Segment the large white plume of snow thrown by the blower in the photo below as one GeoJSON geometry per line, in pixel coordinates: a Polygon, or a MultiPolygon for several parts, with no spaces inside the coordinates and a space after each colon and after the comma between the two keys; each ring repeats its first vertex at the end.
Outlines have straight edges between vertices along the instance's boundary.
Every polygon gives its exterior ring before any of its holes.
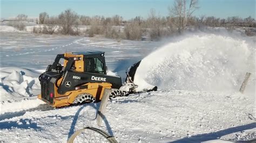
{"type": "MultiPolygon", "coordinates": [[[[245,39],[217,34],[194,34],[146,56],[134,76],[143,90],[238,91],[246,72],[253,73],[254,48],[245,39]]],[[[252,78],[251,78],[252,79],[252,78]]]]}

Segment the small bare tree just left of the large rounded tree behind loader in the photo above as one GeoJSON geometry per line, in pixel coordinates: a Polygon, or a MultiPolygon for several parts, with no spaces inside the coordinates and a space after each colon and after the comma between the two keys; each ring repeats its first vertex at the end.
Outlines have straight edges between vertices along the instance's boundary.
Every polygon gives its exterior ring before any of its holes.
{"type": "Polygon", "coordinates": [[[58,27],[58,25],[57,25],[58,18],[57,17],[46,18],[44,23],[45,23],[44,31],[47,34],[53,34],[58,27]]]}

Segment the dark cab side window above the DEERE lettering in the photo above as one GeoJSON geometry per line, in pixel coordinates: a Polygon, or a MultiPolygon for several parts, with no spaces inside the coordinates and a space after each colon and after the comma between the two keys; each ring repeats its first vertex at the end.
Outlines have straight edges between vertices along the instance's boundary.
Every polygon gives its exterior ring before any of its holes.
{"type": "Polygon", "coordinates": [[[86,58],[85,72],[104,74],[104,65],[98,58],[86,58]]]}

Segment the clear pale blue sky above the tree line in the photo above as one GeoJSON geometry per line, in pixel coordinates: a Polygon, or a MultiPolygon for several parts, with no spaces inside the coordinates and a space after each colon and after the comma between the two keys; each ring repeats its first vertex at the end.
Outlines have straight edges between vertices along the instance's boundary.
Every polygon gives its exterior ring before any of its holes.
{"type": "MultiPolygon", "coordinates": [[[[50,16],[57,16],[70,8],[79,15],[86,16],[120,15],[124,19],[136,16],[146,18],[151,8],[160,16],[167,16],[167,7],[172,5],[173,0],[1,0],[1,17],[16,17],[21,13],[28,17],[38,17],[44,11],[50,16]]],[[[255,0],[199,0],[199,6],[200,9],[194,12],[194,16],[255,18],[255,0]]]]}

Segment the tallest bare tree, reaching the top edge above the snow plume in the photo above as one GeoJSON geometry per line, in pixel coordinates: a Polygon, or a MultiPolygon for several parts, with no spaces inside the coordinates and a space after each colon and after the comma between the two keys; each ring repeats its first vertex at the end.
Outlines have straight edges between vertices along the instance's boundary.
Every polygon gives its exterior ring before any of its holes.
{"type": "Polygon", "coordinates": [[[187,25],[187,20],[190,19],[192,13],[198,9],[198,0],[175,0],[174,4],[169,7],[171,16],[178,17],[178,31],[181,33],[187,25]]]}

